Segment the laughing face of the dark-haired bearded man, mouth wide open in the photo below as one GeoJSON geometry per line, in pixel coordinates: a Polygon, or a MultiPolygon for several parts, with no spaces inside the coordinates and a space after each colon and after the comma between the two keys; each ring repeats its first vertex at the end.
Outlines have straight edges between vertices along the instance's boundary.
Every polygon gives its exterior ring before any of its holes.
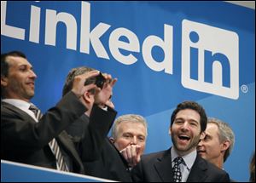
{"type": "Polygon", "coordinates": [[[173,146],[180,156],[194,151],[201,137],[199,113],[192,109],[177,112],[170,132],[173,146]]]}

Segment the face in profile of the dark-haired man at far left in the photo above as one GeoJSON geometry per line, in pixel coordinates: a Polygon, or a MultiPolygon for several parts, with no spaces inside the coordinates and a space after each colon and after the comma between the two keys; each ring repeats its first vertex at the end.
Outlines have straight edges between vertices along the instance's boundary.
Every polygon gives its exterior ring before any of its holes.
{"type": "Polygon", "coordinates": [[[35,79],[37,75],[32,71],[31,64],[24,58],[8,56],[9,64],[7,77],[1,78],[4,88],[4,98],[29,101],[34,95],[35,79]]]}

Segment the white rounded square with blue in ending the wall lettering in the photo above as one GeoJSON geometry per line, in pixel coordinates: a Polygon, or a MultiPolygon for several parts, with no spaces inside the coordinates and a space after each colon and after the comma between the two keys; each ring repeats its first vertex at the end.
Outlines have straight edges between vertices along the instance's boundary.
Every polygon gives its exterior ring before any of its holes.
{"type": "Polygon", "coordinates": [[[239,97],[239,40],[234,31],[183,20],[182,84],[187,89],[239,97]]]}

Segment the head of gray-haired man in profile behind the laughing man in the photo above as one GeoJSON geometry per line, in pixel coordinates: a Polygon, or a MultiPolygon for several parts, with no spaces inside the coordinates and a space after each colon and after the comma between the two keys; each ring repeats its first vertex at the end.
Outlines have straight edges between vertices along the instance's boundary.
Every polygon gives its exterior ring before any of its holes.
{"type": "Polygon", "coordinates": [[[224,162],[230,156],[235,144],[235,135],[228,123],[209,117],[205,136],[197,146],[201,157],[224,169],[224,162]]]}

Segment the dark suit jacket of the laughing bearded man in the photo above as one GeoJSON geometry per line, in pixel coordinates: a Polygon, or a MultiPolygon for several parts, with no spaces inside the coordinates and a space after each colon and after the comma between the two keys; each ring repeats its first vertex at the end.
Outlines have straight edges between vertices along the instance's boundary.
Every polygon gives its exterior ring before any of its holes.
{"type": "MultiPolygon", "coordinates": [[[[144,155],[132,169],[134,181],[173,182],[171,151],[144,155]]],[[[187,182],[230,182],[229,174],[197,155],[187,182]]]]}

